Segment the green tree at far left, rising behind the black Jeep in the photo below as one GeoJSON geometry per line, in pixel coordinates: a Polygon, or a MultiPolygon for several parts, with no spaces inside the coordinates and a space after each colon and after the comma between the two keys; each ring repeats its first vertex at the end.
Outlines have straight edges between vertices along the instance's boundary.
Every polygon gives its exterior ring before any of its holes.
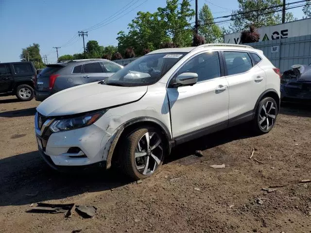
{"type": "Polygon", "coordinates": [[[42,62],[40,55],[40,46],[39,44],[34,43],[29,45],[26,49],[22,49],[21,54],[19,55],[20,61],[30,61],[35,64],[35,68],[43,68],[45,64],[42,62]]]}

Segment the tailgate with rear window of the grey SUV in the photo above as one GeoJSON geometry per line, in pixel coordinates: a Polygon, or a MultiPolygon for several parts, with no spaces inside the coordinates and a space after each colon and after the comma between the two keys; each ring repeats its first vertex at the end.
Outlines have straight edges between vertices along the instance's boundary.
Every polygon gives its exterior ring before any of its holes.
{"type": "Polygon", "coordinates": [[[39,74],[37,74],[37,83],[35,83],[36,91],[50,91],[50,77],[57,74],[64,66],[58,64],[47,65],[39,74]]]}

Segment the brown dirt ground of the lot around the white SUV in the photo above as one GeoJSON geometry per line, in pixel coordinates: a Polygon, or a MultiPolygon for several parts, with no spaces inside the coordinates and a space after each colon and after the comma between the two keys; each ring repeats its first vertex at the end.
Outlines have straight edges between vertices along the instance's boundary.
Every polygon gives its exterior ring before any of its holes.
{"type": "Polygon", "coordinates": [[[311,179],[309,106],[283,106],[265,135],[252,136],[243,125],[186,143],[153,177],[131,183],[117,170],[50,169],[36,151],[38,104],[0,97],[1,233],[311,232],[311,183],[299,184],[311,179]],[[209,167],[215,164],[226,167],[209,167]],[[273,185],[285,186],[261,190],[273,185]],[[97,213],[84,219],[26,212],[40,201],[93,205],[97,213]]]}

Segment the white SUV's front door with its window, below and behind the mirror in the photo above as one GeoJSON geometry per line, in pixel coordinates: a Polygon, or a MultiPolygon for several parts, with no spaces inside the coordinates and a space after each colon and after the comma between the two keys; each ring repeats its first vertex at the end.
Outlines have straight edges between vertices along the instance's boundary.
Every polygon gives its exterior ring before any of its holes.
{"type": "MultiPolygon", "coordinates": [[[[209,126],[227,126],[228,83],[221,74],[218,52],[204,52],[191,58],[174,78],[184,72],[198,74],[192,86],[168,88],[173,137],[198,132],[209,126]]],[[[208,128],[207,128],[208,130],[208,128]]]]}

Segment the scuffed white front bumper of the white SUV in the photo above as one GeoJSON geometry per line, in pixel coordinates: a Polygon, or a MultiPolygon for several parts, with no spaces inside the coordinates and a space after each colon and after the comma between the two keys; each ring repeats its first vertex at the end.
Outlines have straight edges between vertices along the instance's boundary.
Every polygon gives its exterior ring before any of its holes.
{"type": "Polygon", "coordinates": [[[37,126],[36,114],[35,134],[42,142],[42,150],[39,147],[39,152],[52,168],[86,166],[103,162],[107,158],[106,144],[110,134],[95,125],[52,134],[48,131],[49,129],[46,129],[41,133],[37,126]],[[72,148],[79,148],[80,151],[70,152],[69,149],[72,148]]]}

